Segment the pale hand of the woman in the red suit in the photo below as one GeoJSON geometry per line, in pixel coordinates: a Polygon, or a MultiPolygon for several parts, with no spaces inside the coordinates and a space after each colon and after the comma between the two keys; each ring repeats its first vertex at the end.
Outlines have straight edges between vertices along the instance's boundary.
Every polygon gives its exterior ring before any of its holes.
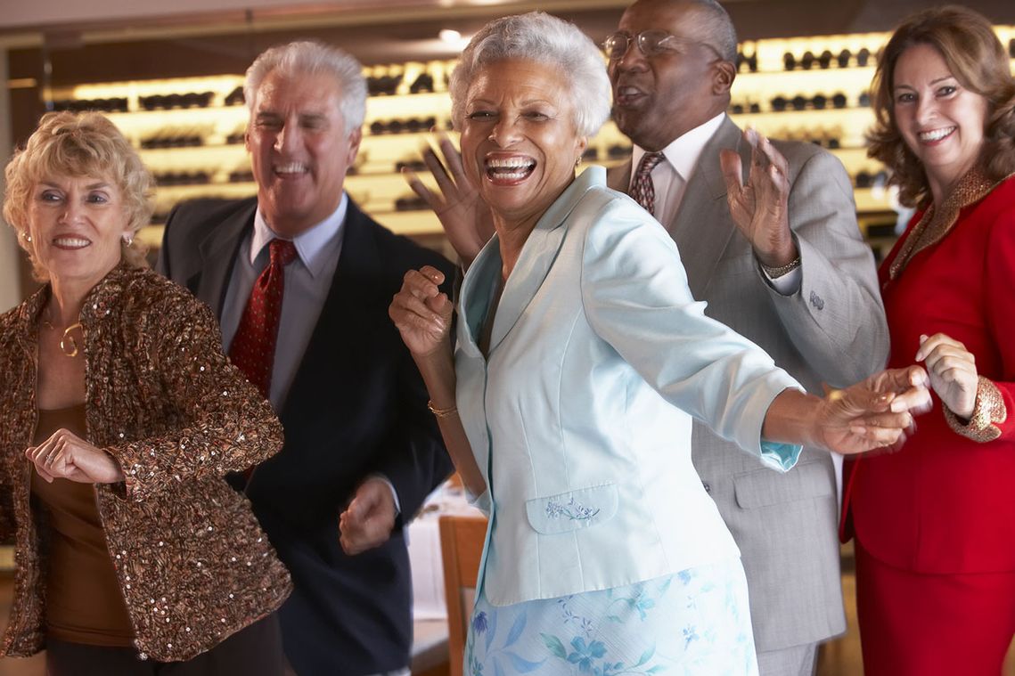
{"type": "Polygon", "coordinates": [[[965,345],[936,333],[920,337],[917,361],[924,361],[931,376],[931,387],[952,413],[968,420],[976,405],[976,358],[965,345]]]}

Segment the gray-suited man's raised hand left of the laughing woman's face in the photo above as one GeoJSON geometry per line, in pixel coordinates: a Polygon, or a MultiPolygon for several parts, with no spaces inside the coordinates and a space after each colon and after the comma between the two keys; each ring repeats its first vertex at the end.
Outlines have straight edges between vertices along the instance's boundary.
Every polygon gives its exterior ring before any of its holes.
{"type": "Polygon", "coordinates": [[[479,250],[493,235],[493,217],[490,208],[479,196],[479,192],[469,182],[462,166],[462,155],[455,148],[447,134],[437,137],[437,144],[444,161],[435,150],[423,150],[423,162],[433,175],[441,188],[437,195],[427,188],[419,177],[408,170],[403,175],[412,189],[423,198],[441,220],[448,241],[468,268],[479,254],[479,250]]]}

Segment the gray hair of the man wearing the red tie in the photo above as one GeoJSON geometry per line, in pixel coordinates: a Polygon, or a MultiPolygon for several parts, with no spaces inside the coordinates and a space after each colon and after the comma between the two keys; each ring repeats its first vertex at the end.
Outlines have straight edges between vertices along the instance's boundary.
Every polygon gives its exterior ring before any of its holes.
{"type": "Polygon", "coordinates": [[[272,47],[262,52],[247,69],[244,96],[247,98],[248,109],[254,110],[254,99],[261,82],[276,70],[285,77],[318,73],[331,75],[338,84],[338,106],[345,122],[345,132],[349,133],[363,125],[363,117],[366,115],[366,80],[363,78],[363,67],[354,57],[337,47],[310,41],[272,47]]]}

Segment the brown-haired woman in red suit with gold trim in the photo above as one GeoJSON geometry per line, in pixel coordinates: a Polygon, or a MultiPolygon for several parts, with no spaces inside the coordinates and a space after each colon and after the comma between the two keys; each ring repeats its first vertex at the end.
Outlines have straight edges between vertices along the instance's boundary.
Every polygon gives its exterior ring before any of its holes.
{"type": "Polygon", "coordinates": [[[990,22],[922,11],[874,84],[869,154],[918,212],[881,266],[889,367],[935,410],[848,469],[866,676],[997,676],[1015,633],[1015,82],[990,22]]]}

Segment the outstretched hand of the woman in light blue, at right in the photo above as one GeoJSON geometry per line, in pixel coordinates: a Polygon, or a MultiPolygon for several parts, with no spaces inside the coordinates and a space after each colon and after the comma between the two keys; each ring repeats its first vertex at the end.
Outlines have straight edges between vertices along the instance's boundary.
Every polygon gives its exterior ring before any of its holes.
{"type": "Polygon", "coordinates": [[[895,450],[915,430],[913,415],[931,408],[927,373],[892,368],[826,393],[817,413],[817,443],[843,455],[895,450]]]}

